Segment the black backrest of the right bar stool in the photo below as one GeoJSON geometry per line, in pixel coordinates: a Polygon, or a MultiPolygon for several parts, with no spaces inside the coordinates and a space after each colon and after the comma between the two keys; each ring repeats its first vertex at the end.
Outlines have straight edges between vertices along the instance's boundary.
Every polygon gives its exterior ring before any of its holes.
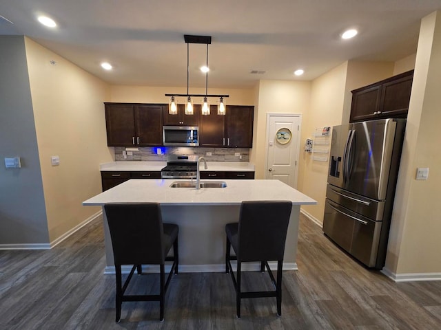
{"type": "Polygon", "coordinates": [[[291,208],[291,201],[243,201],[238,261],[283,260],[291,208]]]}

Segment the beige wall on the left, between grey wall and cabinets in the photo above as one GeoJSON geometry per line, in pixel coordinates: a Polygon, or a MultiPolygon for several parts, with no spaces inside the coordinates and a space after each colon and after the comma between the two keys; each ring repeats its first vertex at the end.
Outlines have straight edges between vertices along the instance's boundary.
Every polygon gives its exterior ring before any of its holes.
{"type": "Polygon", "coordinates": [[[25,38],[50,242],[99,208],[81,202],[101,192],[107,148],[103,100],[108,87],[61,56],[25,38]],[[50,64],[55,61],[56,64],[50,64]],[[51,156],[60,165],[51,165],[51,156]]]}

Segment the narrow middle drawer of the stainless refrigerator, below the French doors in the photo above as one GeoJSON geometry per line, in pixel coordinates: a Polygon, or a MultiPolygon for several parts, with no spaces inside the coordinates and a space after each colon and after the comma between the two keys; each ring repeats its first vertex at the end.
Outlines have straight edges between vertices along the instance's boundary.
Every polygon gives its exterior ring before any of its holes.
{"type": "Polygon", "coordinates": [[[328,184],[326,189],[326,197],[331,201],[371,220],[382,221],[384,201],[376,201],[375,199],[360,196],[331,184],[328,184]]]}

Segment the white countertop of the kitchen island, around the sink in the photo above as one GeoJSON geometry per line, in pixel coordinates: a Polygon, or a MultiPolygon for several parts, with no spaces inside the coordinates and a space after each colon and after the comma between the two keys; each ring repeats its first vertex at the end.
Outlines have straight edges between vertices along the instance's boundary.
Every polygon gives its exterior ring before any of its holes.
{"type": "MultiPolygon", "coordinates": [[[[226,188],[170,188],[174,179],[131,179],[83,201],[84,206],[105,203],[155,202],[167,205],[233,205],[242,201],[289,200],[293,204],[317,202],[279,180],[223,180],[226,188]]],[[[210,180],[202,180],[210,181],[210,180]]]]}

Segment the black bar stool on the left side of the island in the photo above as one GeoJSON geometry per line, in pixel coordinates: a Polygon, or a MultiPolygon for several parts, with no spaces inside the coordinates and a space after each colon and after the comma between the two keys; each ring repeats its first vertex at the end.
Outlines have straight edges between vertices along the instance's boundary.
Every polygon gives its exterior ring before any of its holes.
{"type": "Polygon", "coordinates": [[[107,203],[104,206],[109,224],[116,275],[116,322],[121,319],[123,301],[159,301],[159,320],[164,320],[164,296],[170,278],[178,274],[178,225],[163,223],[158,203],[107,203]],[[173,256],[167,256],[173,246],[173,256]],[[165,261],[173,261],[165,282],[165,261]],[[133,265],[122,285],[121,265],[133,265]],[[160,292],[153,295],[124,295],[135,269],[159,265],[160,292]]]}

